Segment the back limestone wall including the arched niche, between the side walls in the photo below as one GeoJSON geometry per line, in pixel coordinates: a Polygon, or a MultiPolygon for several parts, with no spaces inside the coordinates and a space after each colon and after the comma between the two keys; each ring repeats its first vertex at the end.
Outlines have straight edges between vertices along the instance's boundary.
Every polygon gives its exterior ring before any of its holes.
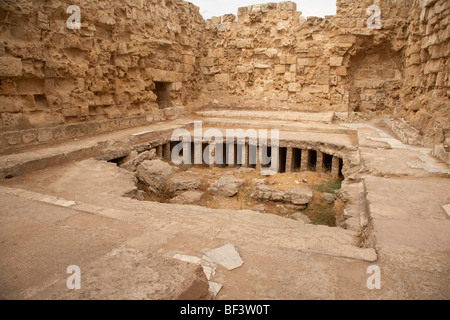
{"type": "Polygon", "coordinates": [[[339,0],[337,15],[325,19],[303,17],[292,2],[213,18],[202,61],[206,89],[255,106],[390,112],[398,102],[391,91],[401,84],[404,46],[393,39],[406,24],[408,3],[379,2],[381,30],[367,27],[373,1],[339,0]]]}

